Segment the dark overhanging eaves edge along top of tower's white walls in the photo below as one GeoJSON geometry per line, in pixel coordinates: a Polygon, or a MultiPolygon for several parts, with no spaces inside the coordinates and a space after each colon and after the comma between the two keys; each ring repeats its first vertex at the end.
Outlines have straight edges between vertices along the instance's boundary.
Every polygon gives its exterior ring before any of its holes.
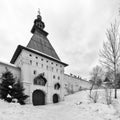
{"type": "Polygon", "coordinates": [[[12,63],[12,64],[15,63],[17,57],[19,56],[19,54],[21,53],[21,51],[22,51],[23,49],[24,49],[24,50],[27,50],[27,51],[29,51],[29,52],[35,53],[35,54],[37,54],[37,55],[41,55],[41,56],[46,57],[46,58],[48,58],[48,59],[51,59],[51,60],[53,60],[53,61],[55,61],[55,62],[61,63],[61,64],[63,64],[65,67],[68,66],[68,64],[66,64],[66,63],[64,63],[64,62],[61,62],[61,61],[59,61],[59,60],[57,60],[57,59],[55,59],[55,58],[53,58],[53,57],[51,57],[51,56],[48,56],[48,55],[43,54],[43,53],[41,53],[41,52],[39,52],[39,51],[33,50],[33,49],[31,49],[31,48],[28,48],[28,47],[24,47],[24,46],[21,46],[21,45],[18,45],[18,46],[17,46],[17,49],[16,49],[16,51],[15,51],[15,53],[14,53],[14,55],[13,55],[11,61],[10,61],[10,63],[12,63]]]}

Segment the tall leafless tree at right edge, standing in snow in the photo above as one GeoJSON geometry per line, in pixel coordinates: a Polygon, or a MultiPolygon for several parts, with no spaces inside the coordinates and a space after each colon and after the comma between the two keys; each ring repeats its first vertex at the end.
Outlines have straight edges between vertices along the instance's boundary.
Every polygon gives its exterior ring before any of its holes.
{"type": "Polygon", "coordinates": [[[106,32],[107,41],[103,42],[103,49],[100,51],[100,62],[113,73],[113,83],[115,88],[115,98],[117,98],[116,74],[120,65],[120,34],[119,24],[111,24],[106,32]]]}

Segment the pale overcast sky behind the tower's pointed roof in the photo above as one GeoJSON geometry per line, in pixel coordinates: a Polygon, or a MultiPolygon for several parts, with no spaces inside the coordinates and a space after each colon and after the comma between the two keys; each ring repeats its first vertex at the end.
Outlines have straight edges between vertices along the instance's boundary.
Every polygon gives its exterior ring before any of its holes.
{"type": "Polygon", "coordinates": [[[119,0],[0,0],[0,58],[10,61],[26,46],[41,10],[48,39],[69,66],[65,73],[87,78],[98,63],[105,32],[119,15],[119,0]]]}

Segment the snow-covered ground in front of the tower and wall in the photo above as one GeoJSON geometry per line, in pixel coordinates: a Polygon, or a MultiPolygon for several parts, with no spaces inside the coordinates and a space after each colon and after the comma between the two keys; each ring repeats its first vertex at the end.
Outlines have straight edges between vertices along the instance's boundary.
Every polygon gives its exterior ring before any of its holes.
{"type": "Polygon", "coordinates": [[[45,106],[6,103],[0,100],[0,120],[120,120],[120,99],[112,105],[92,103],[88,91],[69,95],[65,101],[45,106]]]}

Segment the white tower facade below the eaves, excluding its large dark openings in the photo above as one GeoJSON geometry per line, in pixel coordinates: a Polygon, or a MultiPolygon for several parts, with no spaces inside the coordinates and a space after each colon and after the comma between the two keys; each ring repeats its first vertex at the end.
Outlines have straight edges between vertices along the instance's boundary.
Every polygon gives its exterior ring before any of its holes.
{"type": "Polygon", "coordinates": [[[21,68],[21,78],[26,88],[25,93],[30,96],[29,103],[32,103],[32,93],[40,89],[46,94],[46,103],[52,103],[53,94],[57,93],[60,101],[64,99],[63,79],[64,66],[42,56],[38,56],[26,50],[22,50],[15,64],[21,68]],[[40,73],[44,73],[47,79],[46,86],[34,85],[34,78],[40,73]],[[55,76],[55,77],[54,77],[55,76]],[[54,84],[59,83],[61,88],[54,89],[54,84]]]}

